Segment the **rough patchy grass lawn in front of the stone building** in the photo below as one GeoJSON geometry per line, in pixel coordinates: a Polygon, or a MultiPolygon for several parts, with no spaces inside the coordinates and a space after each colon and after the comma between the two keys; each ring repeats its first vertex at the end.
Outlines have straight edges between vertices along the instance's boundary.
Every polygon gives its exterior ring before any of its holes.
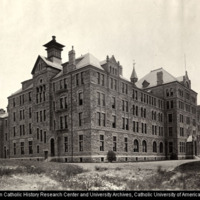
{"type": "Polygon", "coordinates": [[[75,164],[0,160],[0,190],[199,190],[199,180],[200,161],[191,160],[75,164]]]}

